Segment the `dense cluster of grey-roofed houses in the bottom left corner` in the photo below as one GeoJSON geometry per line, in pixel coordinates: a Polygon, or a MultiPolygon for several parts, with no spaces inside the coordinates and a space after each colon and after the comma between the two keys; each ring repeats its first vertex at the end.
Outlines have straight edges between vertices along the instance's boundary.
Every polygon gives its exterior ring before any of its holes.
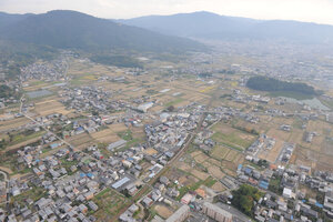
{"type": "Polygon", "coordinates": [[[40,192],[40,199],[32,201],[36,196],[29,195],[23,202],[13,201],[9,221],[95,221],[91,214],[99,206],[93,196],[104,188],[101,179],[108,178],[105,163],[71,149],[61,149],[42,159],[37,159],[38,154],[32,157],[28,150],[19,153],[33,174],[10,180],[9,190],[13,199],[26,192],[40,192]]]}

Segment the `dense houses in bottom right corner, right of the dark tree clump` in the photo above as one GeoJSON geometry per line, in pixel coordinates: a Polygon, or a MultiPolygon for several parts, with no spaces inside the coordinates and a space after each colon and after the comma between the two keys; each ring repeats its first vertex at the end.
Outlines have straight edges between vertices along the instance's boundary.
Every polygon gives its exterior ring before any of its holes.
{"type": "MultiPolygon", "coordinates": [[[[303,165],[259,172],[250,165],[240,165],[238,174],[238,182],[249,183],[265,192],[255,204],[256,221],[323,221],[323,214],[333,218],[333,184],[330,172],[316,171],[311,175],[311,168],[303,165]],[[270,180],[278,181],[276,189],[270,188],[270,180]],[[306,191],[300,189],[300,184],[314,190],[316,199],[309,198],[306,191]]],[[[226,201],[229,199],[224,202],[226,201]]]]}

